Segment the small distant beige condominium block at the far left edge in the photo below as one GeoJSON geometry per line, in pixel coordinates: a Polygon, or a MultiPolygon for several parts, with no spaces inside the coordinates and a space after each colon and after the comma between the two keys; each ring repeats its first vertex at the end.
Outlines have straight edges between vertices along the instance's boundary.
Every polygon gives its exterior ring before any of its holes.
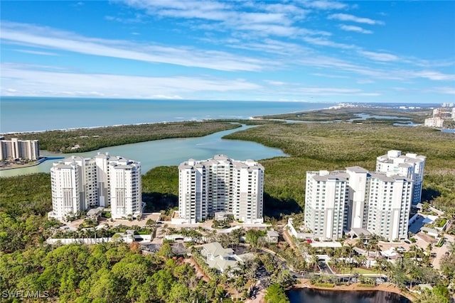
{"type": "Polygon", "coordinates": [[[40,158],[38,140],[19,140],[18,138],[4,140],[4,137],[1,137],[0,145],[0,160],[38,160],[40,158]]]}

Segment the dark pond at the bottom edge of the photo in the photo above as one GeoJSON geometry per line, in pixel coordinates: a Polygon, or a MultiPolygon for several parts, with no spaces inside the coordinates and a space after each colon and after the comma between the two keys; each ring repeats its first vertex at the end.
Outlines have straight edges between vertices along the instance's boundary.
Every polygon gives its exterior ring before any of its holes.
{"type": "Polygon", "coordinates": [[[291,303],[409,303],[400,294],[382,291],[289,290],[291,303]]]}

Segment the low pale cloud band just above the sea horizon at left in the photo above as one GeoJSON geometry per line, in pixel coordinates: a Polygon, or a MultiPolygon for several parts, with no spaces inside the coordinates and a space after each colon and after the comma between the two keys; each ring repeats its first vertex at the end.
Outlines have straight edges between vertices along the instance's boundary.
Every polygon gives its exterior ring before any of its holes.
{"type": "Polygon", "coordinates": [[[1,94],[11,95],[6,87],[14,87],[18,96],[65,96],[69,94],[104,97],[181,96],[199,92],[236,92],[262,89],[245,79],[214,77],[140,77],[128,75],[79,74],[49,72],[24,65],[2,64],[1,94]]]}

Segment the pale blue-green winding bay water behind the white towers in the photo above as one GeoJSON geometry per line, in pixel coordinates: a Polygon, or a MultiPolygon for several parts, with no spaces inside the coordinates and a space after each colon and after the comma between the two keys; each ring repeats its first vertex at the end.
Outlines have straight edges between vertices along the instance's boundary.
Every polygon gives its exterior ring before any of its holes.
{"type": "MultiPolygon", "coordinates": [[[[225,140],[221,137],[228,133],[241,131],[254,126],[242,126],[229,131],[220,131],[208,136],[199,138],[177,138],[157,141],[148,141],[127,145],[112,146],[102,148],[87,153],[48,153],[41,150],[42,156],[52,158],[68,158],[71,155],[80,155],[82,157],[93,157],[100,153],[109,153],[109,155],[121,155],[141,162],[142,174],[145,174],[153,167],[161,165],[178,165],[181,162],[193,158],[203,160],[213,158],[213,155],[223,153],[235,160],[262,160],[279,156],[286,156],[278,148],[267,148],[259,143],[249,141],[225,140]]],[[[60,159],[62,160],[62,159],[60,159]]],[[[16,175],[26,175],[34,172],[50,172],[52,163],[59,159],[47,160],[40,165],[16,168],[13,170],[0,170],[0,177],[11,177],[16,175]]]]}

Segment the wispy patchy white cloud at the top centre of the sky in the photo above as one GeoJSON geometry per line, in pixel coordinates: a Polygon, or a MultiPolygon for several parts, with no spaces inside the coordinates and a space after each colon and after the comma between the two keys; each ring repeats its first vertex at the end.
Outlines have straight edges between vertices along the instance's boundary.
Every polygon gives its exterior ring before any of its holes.
{"type": "MultiPolygon", "coordinates": [[[[120,1],[118,1],[120,2],[120,1]]],[[[249,1],[145,1],[124,0],[124,4],[145,11],[153,18],[184,18],[191,20],[191,28],[210,31],[252,32],[260,36],[294,36],[314,34],[294,26],[310,12],[295,4],[277,4],[249,1]]],[[[306,6],[341,7],[343,4],[328,1],[311,1],[306,6]],[[313,3],[315,2],[315,3],[313,3]]]]}

